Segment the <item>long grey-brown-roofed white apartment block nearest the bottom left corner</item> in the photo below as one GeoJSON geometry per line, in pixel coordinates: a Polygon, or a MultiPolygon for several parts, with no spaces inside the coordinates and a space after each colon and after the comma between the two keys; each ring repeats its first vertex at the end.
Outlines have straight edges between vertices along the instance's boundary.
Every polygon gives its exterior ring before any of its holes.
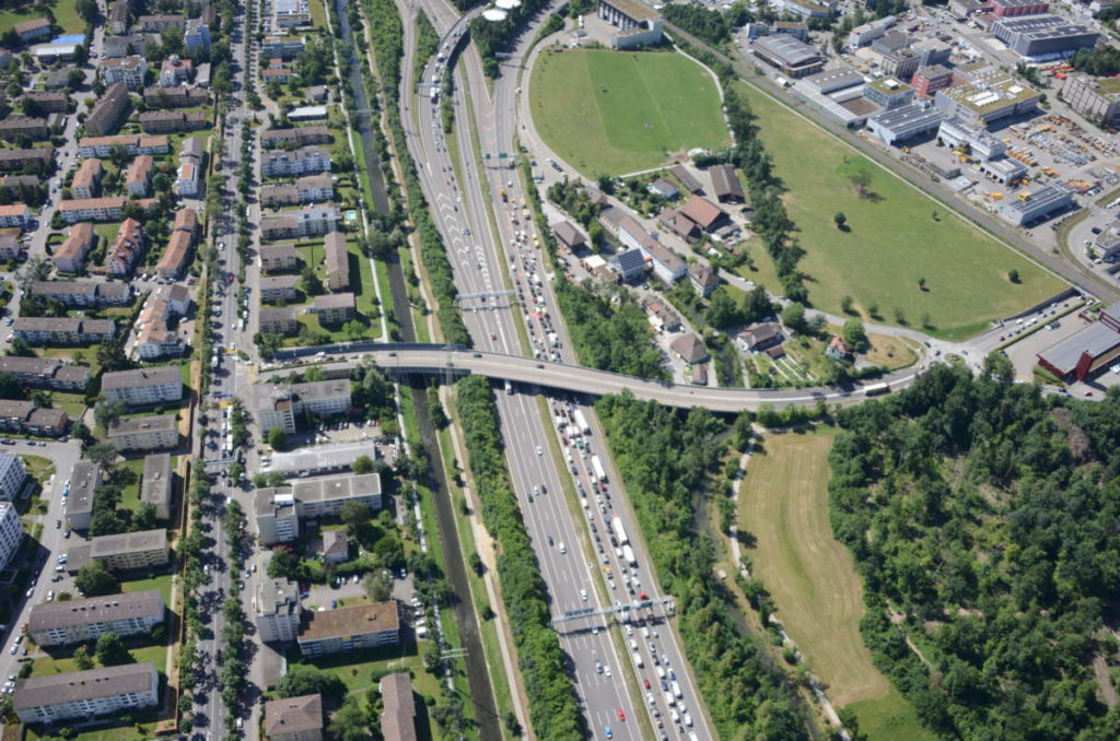
{"type": "Polygon", "coordinates": [[[24,723],[108,715],[159,704],[159,675],[151,662],[21,679],[12,711],[24,723]]]}

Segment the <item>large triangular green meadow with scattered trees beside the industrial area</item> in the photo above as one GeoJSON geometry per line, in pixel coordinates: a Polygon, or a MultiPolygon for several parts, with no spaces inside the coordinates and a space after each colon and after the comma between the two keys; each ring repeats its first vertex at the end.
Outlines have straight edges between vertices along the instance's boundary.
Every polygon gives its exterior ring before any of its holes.
{"type": "MultiPolygon", "coordinates": [[[[963,339],[1062,289],[1060,281],[855,149],[739,85],[787,189],[786,208],[806,253],[800,266],[816,308],[840,313],[841,298],[851,296],[865,316],[877,307],[881,320],[898,323],[900,310],[914,327],[927,317],[927,331],[963,339]],[[870,176],[867,197],[849,179],[857,171],[870,176]],[[847,216],[846,231],[833,224],[838,212],[847,216]],[[1012,269],[1021,283],[1008,280],[1012,269]],[[921,278],[925,290],[918,288],[921,278]]],[[[768,260],[760,251],[754,256],[768,260]]],[[[765,282],[759,274],[749,278],[765,282]]]]}

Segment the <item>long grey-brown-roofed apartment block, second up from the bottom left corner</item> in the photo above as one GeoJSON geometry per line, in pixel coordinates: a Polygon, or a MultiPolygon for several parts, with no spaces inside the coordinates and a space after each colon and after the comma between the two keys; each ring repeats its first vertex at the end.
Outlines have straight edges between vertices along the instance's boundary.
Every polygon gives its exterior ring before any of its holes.
{"type": "Polygon", "coordinates": [[[27,632],[40,647],[94,641],[106,632],[147,636],[164,623],[166,606],[158,589],[105,594],[31,608],[27,632]]]}

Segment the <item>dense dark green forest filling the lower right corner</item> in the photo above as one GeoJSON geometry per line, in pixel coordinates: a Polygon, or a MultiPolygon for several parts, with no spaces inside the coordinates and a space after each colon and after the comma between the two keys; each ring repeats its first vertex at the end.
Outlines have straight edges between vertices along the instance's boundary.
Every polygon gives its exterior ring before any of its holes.
{"type": "Polygon", "coordinates": [[[878,666],[942,738],[1120,738],[1102,697],[1120,589],[1120,393],[1043,397],[935,366],[844,410],[832,528],[856,559],[878,666]]]}

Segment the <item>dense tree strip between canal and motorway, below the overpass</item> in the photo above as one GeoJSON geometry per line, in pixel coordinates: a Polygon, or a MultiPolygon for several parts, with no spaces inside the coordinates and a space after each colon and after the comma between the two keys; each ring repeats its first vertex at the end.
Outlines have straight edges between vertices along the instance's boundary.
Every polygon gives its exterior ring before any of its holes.
{"type": "Polygon", "coordinates": [[[505,466],[497,406],[488,379],[467,376],[459,381],[456,410],[482,501],[483,523],[498,544],[497,575],[517,646],[533,731],[541,741],[586,738],[567,658],[550,625],[544,580],[505,466]]]}

